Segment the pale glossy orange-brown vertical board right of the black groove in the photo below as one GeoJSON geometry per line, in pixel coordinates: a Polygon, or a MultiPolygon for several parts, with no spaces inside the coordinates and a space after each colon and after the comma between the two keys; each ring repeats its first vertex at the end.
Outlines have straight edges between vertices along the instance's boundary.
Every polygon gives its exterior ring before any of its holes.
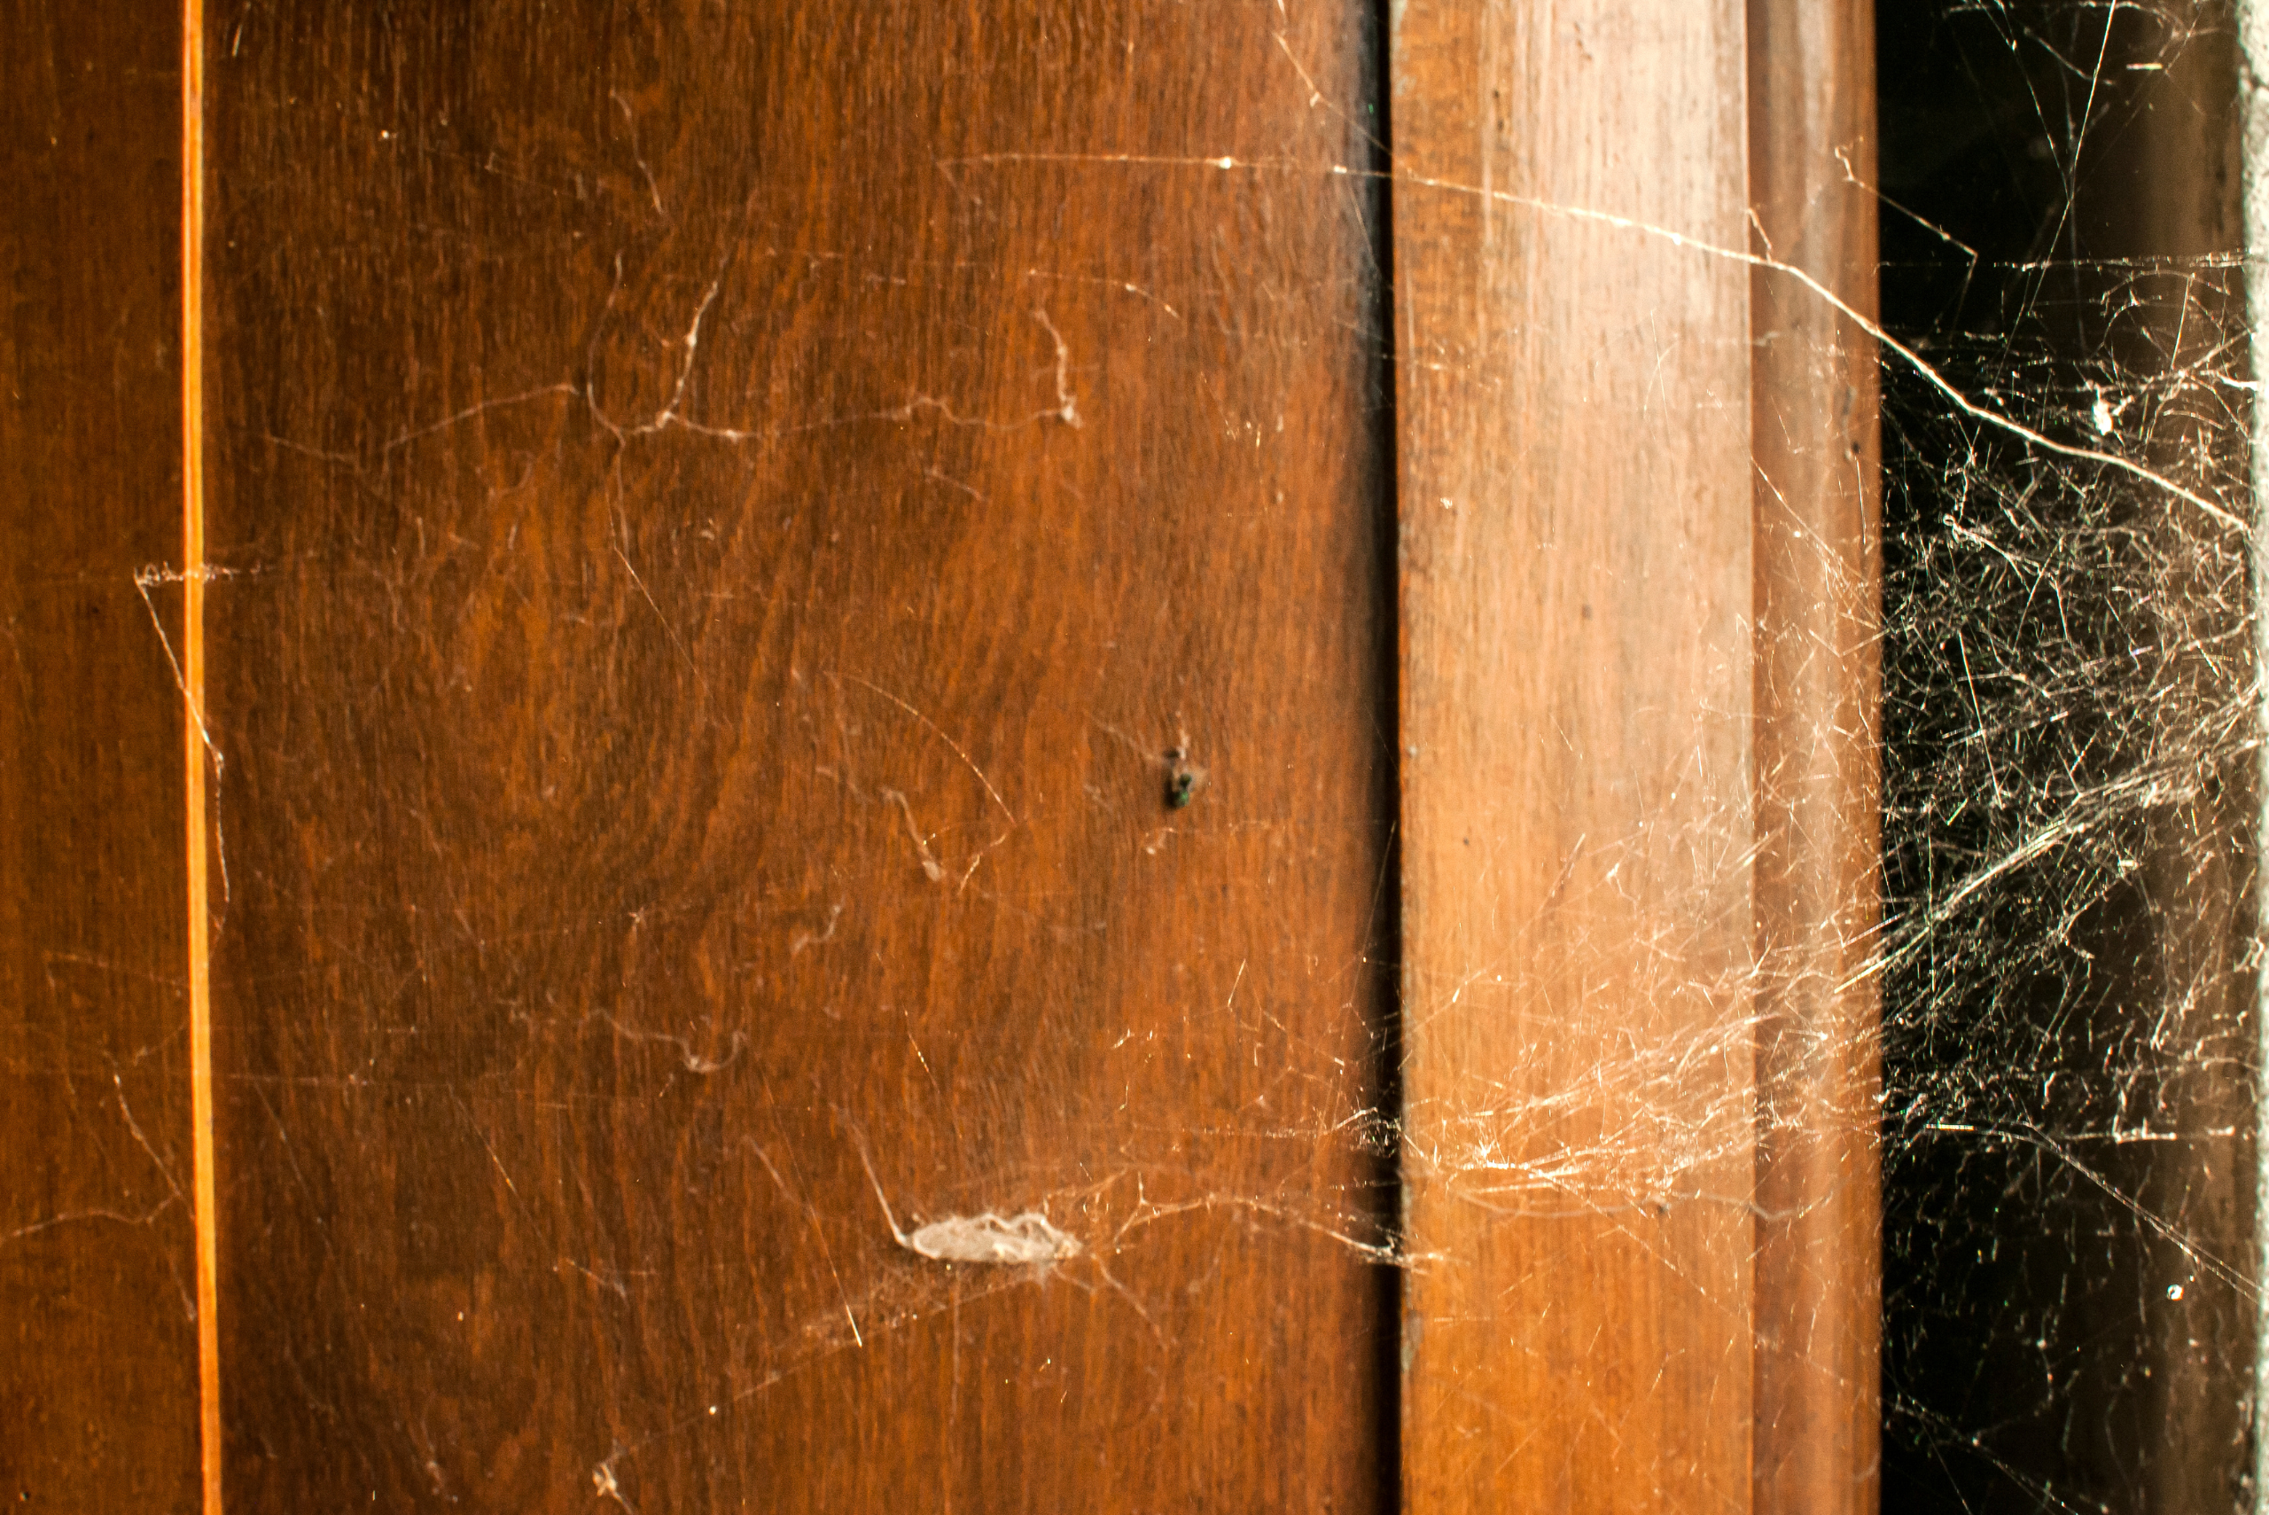
{"type": "Polygon", "coordinates": [[[1405,1495],[1747,1508],[1743,11],[1409,0],[1391,52],[1405,1495]]]}

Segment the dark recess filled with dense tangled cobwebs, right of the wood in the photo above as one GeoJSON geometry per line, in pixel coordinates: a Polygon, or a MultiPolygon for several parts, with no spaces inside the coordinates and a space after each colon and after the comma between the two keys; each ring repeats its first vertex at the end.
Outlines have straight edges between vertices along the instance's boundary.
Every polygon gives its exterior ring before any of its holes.
{"type": "MultiPolygon", "coordinates": [[[[1883,7],[1886,324],[2251,517],[2235,16],[1883,7]]],[[[2251,1508],[2242,533],[1886,370],[1886,1508],[2251,1508]]]]}

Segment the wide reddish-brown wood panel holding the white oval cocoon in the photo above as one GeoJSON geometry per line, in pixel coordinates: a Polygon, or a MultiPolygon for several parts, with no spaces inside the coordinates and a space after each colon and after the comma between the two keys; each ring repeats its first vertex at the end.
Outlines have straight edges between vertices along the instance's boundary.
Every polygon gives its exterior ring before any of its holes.
{"type": "Polygon", "coordinates": [[[227,1506],[1373,1508],[1361,18],[206,48],[227,1506]]]}

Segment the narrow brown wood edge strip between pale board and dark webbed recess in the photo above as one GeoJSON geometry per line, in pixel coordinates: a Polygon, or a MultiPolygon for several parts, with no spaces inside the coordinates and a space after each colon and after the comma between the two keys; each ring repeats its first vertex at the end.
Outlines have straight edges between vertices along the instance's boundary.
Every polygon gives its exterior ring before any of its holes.
{"type": "MultiPolygon", "coordinates": [[[[1749,0],[1752,249],[1876,313],[1874,7],[1749,0]]],[[[1756,1504],[1876,1508],[1881,433],[1874,338],[1752,274],[1756,1504]]]]}

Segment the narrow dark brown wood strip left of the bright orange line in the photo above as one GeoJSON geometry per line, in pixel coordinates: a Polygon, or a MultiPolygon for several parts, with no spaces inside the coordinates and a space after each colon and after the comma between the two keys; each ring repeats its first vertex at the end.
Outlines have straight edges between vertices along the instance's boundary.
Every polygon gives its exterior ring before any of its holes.
{"type": "Polygon", "coordinates": [[[0,20],[0,1499],[186,1510],[177,32],[0,20]],[[143,576],[145,578],[145,576],[143,576]]]}

